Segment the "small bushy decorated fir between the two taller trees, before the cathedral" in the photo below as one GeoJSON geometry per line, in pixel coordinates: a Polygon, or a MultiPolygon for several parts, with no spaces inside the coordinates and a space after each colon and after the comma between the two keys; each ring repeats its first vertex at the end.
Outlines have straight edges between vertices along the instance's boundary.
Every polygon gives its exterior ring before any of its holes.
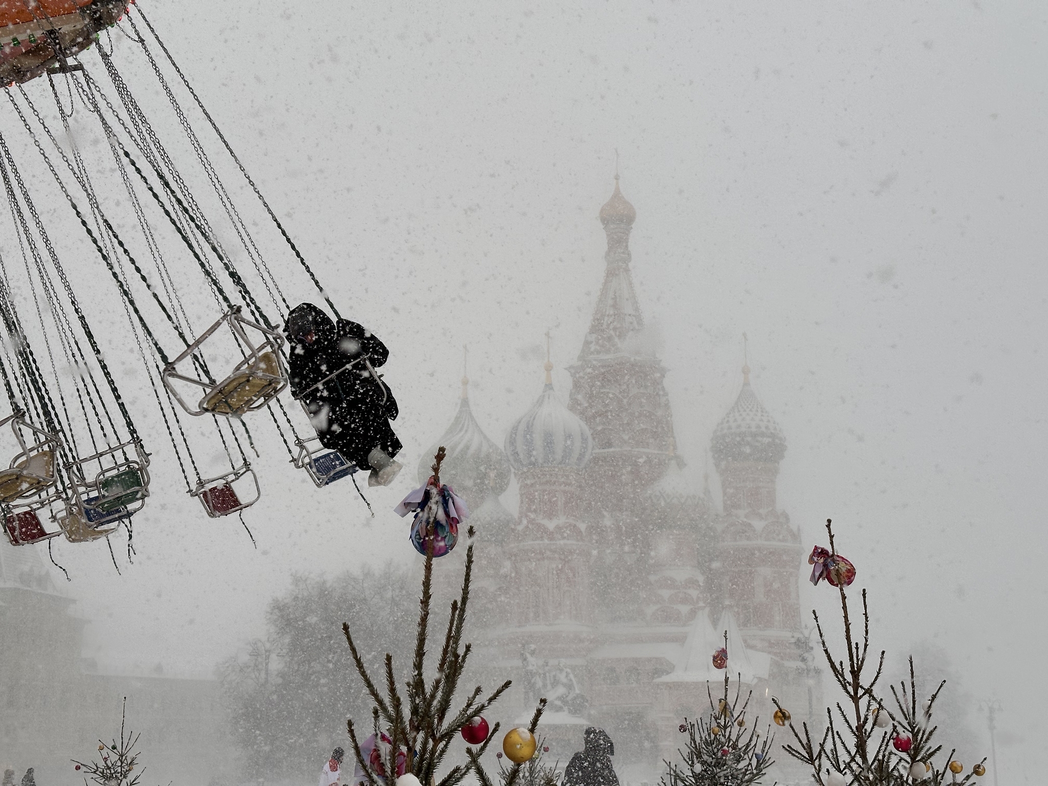
{"type": "MultiPolygon", "coordinates": [[[[727,658],[727,631],[724,631],[723,653],[727,658]]],[[[665,762],[669,771],[662,777],[661,786],[749,786],[760,783],[765,770],[774,762],[768,756],[774,739],[768,732],[761,737],[756,726],[760,718],[747,725],[746,708],[752,692],[746,694],[742,706],[741,677],[736,682],[735,698],[728,700],[728,672],[724,672],[724,693],[714,704],[709,698],[708,718],[684,719],[680,730],[687,735],[683,749],[678,749],[682,764],[665,762]]]]}

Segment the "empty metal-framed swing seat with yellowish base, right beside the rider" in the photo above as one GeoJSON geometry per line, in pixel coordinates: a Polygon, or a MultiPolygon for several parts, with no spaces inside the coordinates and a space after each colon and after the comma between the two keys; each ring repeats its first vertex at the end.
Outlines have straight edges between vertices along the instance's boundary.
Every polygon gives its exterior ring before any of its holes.
{"type": "Polygon", "coordinates": [[[184,352],[165,366],[160,374],[163,387],[178,401],[178,405],[191,415],[222,415],[223,417],[239,418],[248,412],[262,409],[287,387],[287,366],[280,352],[280,348],[284,344],[284,336],[275,330],[269,330],[259,325],[257,322],[244,319],[240,310],[240,307],[236,306],[224,313],[218,322],[208,328],[196,341],[187,347],[184,352]],[[222,326],[227,327],[232,332],[237,346],[243,353],[243,359],[221,381],[214,384],[180,373],[178,371],[179,364],[191,361],[199,352],[201,345],[222,326]],[[247,334],[247,329],[260,333],[262,341],[259,343],[252,341],[247,334]],[[277,373],[269,373],[265,370],[265,366],[270,362],[270,355],[272,362],[276,363],[277,373]],[[241,378],[243,383],[241,383],[241,378]],[[182,397],[175,381],[203,388],[204,395],[195,406],[191,406],[182,397]],[[231,400],[232,393],[241,391],[241,385],[247,381],[262,383],[262,387],[258,391],[252,392],[249,397],[243,402],[236,403],[235,400],[231,400]],[[228,386],[234,386],[233,390],[227,393],[221,393],[228,386]],[[209,407],[209,401],[213,399],[216,393],[220,394],[218,400],[224,401],[226,405],[224,409],[215,406],[209,407]]]}

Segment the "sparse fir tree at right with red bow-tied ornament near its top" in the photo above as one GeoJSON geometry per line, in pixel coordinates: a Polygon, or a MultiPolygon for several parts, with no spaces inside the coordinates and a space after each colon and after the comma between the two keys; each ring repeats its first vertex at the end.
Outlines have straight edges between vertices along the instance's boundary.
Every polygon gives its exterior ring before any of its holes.
{"type": "Polygon", "coordinates": [[[863,639],[852,629],[848,595],[845,588],[854,578],[854,567],[836,552],[832,522],[827,519],[826,532],[830,548],[815,548],[809,562],[815,564],[813,581],[825,574],[840,593],[840,613],[844,620],[847,662],[834,659],[826,643],[818,614],[812,611],[823,654],[829,664],[833,680],[844,694],[834,706],[826,708],[827,727],[816,743],[807,723],[799,732],[790,720],[789,712],[778,699],[776,722],[788,725],[794,742],[783,749],[798,761],[811,767],[814,781],[820,786],[903,786],[904,784],[958,784],[963,786],[985,773],[983,759],[965,773],[963,765],[954,759],[956,749],[942,758],[944,747],[934,741],[936,726],[932,721],[935,701],[945,681],[921,700],[917,696],[913,658],[910,658],[910,684],[891,685],[892,707],[885,696],[877,693],[877,682],[885,665],[885,652],[873,661],[870,656],[870,613],[866,590],[863,590],[863,639]],[[939,758],[941,767],[935,763],[939,758]]]}

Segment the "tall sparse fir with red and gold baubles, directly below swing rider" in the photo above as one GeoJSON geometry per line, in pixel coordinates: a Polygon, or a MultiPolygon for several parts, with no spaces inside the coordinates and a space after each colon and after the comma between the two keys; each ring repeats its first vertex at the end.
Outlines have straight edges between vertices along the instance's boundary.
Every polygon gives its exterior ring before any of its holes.
{"type": "MultiPolygon", "coordinates": [[[[434,487],[437,489],[441,488],[440,464],[443,457],[444,449],[441,446],[434,457],[433,464],[434,487]]],[[[440,658],[432,679],[427,678],[425,672],[433,584],[434,539],[432,533],[423,533],[427,554],[422,571],[422,591],[419,598],[415,652],[411,673],[402,692],[397,684],[393,655],[386,654],[385,673],[381,680],[383,689],[380,690],[365,665],[349,625],[343,625],[343,633],[349,645],[353,663],[374,702],[371,719],[374,737],[371,739],[371,744],[368,745],[370,749],[367,755],[362,748],[362,742],[357,737],[357,729],[352,719],[347,723],[353,745],[353,755],[369,786],[388,783],[386,778],[388,772],[395,773],[394,778],[400,782],[400,786],[406,786],[406,784],[415,786],[419,783],[428,784],[428,786],[455,786],[471,773],[480,782],[481,786],[492,786],[492,780],[484,771],[480,759],[498,734],[499,723],[496,723],[479,742],[465,748],[465,763],[456,764],[440,780],[437,780],[437,770],[459,734],[466,726],[470,728],[463,737],[472,737],[476,734],[477,728],[485,728],[487,724],[486,721],[482,720],[482,715],[510,685],[510,681],[506,680],[484,699],[481,698],[483,689],[477,685],[466,697],[464,703],[460,703],[458,708],[453,707],[459,681],[462,678],[472,649],[470,643],[462,641],[473,574],[473,527],[470,527],[467,534],[471,543],[466,548],[462,589],[459,598],[452,602],[440,658]]],[[[520,737],[525,738],[525,741],[530,743],[532,751],[534,729],[539,725],[539,719],[545,705],[546,700],[541,699],[528,727],[515,729],[520,737]]],[[[522,759],[520,763],[515,763],[509,768],[506,777],[502,779],[503,786],[515,785],[524,761],[526,759],[522,759]]]]}

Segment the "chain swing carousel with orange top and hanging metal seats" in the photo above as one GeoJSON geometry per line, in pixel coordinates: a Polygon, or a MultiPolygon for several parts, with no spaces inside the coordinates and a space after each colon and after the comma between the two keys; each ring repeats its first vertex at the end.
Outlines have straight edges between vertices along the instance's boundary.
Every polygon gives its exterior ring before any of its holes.
{"type": "MultiPolygon", "coordinates": [[[[373,454],[381,465],[348,460],[318,424],[349,377],[350,387],[363,377],[383,402],[392,398],[373,368],[385,354],[369,363],[350,351],[331,373],[322,367],[311,398],[292,385],[302,407],[285,407],[287,289],[315,287],[339,335],[347,325],[370,333],[341,319],[141,8],[0,0],[0,82],[9,214],[0,218],[0,377],[10,408],[0,419],[0,456],[13,456],[0,470],[0,516],[8,541],[50,548],[60,534],[84,543],[123,527],[130,543],[152,480],[144,434],[166,434],[188,494],[211,518],[259,500],[248,455],[258,456],[253,430],[269,425],[318,487],[358,468],[372,470],[374,481],[385,467],[378,482],[388,482],[399,467],[390,456],[373,454]],[[275,274],[269,240],[305,277],[275,274]],[[139,391],[147,411],[132,414],[139,391]]],[[[290,350],[301,354],[294,342],[312,336],[289,334],[290,350]]]]}

